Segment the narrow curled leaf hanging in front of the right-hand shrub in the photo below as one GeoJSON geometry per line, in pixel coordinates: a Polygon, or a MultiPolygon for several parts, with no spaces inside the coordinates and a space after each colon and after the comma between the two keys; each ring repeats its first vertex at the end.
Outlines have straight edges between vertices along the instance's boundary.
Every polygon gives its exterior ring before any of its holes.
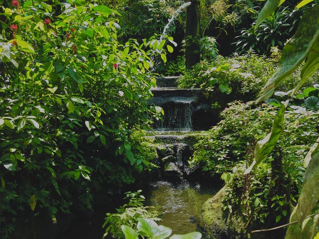
{"type": "Polygon", "coordinates": [[[281,105],[274,119],[271,132],[262,140],[258,141],[254,151],[254,161],[245,171],[245,175],[250,173],[260,162],[265,160],[278,142],[283,132],[283,122],[285,116],[285,105],[281,105]]]}

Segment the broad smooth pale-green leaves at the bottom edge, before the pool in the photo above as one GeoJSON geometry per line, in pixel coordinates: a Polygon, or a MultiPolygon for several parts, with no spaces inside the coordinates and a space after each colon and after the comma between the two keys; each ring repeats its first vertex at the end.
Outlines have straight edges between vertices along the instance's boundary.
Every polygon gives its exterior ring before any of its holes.
{"type": "MultiPolygon", "coordinates": [[[[171,229],[158,225],[150,219],[139,218],[137,225],[138,233],[126,225],[122,226],[122,231],[126,239],[138,239],[139,235],[148,239],[165,239],[171,235],[171,229]]],[[[194,232],[185,235],[173,235],[169,239],[201,239],[201,233],[194,232]]]]}

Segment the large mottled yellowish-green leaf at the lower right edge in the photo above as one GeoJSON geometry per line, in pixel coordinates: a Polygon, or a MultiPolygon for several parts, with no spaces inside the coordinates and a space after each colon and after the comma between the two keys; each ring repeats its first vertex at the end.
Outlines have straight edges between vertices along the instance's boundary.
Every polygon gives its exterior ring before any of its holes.
{"type": "Polygon", "coordinates": [[[319,152],[312,156],[308,165],[302,191],[298,200],[296,214],[299,224],[302,225],[305,218],[315,208],[319,201],[319,152]]]}

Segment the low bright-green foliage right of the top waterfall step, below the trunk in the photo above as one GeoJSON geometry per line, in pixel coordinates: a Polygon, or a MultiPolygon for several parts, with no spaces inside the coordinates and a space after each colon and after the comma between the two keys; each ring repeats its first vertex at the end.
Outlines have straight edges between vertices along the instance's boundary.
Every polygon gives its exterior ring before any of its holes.
{"type": "Polygon", "coordinates": [[[236,89],[242,94],[254,96],[274,71],[271,60],[252,53],[231,58],[218,56],[211,62],[202,61],[185,72],[178,85],[181,88],[207,90],[219,88],[228,94],[236,89]]]}

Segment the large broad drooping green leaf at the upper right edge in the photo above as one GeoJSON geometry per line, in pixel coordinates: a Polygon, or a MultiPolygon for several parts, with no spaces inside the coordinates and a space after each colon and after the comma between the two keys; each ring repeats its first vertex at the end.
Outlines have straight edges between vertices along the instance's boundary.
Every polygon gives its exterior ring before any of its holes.
{"type": "MultiPolygon", "coordinates": [[[[293,73],[317,46],[319,40],[319,5],[306,10],[295,35],[285,45],[277,72],[268,80],[256,102],[272,96],[275,88],[293,73]]],[[[306,74],[308,75],[308,74],[306,74]]],[[[306,76],[305,75],[305,76],[306,76]]]]}

